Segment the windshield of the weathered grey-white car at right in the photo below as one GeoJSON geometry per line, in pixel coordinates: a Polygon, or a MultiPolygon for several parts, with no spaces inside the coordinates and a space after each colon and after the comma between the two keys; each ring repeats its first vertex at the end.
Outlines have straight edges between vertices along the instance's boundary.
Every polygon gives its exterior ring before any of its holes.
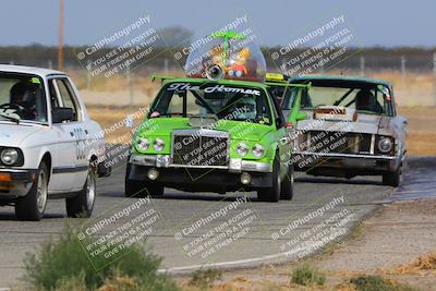
{"type": "Polygon", "coordinates": [[[283,108],[289,107],[301,92],[302,109],[320,106],[341,106],[353,108],[358,112],[373,114],[392,114],[389,90],[378,89],[376,85],[343,83],[340,85],[314,84],[310,88],[293,88],[283,108]]]}

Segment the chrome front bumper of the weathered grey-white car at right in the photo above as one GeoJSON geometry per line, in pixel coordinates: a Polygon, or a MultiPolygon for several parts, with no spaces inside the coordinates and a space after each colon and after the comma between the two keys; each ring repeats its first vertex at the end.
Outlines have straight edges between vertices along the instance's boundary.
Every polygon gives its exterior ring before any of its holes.
{"type": "Polygon", "coordinates": [[[395,171],[401,161],[398,156],[296,151],[291,162],[295,170],[303,171],[330,168],[378,174],[395,171]]]}

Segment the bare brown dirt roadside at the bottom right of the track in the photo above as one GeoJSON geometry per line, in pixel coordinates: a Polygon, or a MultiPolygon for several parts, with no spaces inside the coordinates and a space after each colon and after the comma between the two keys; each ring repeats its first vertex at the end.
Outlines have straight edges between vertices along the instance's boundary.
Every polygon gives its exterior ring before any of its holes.
{"type": "MultiPolygon", "coordinates": [[[[304,262],[226,271],[210,290],[353,290],[358,276],[382,276],[411,290],[435,290],[436,201],[382,206],[342,242],[304,262]],[[322,287],[290,283],[292,269],[308,264],[326,276],[322,287]]],[[[191,290],[186,278],[179,279],[191,290]]]]}

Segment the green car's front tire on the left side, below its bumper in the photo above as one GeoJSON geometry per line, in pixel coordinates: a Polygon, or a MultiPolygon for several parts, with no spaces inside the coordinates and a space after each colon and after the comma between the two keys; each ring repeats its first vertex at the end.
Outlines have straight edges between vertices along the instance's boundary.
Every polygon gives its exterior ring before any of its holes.
{"type": "Polygon", "coordinates": [[[125,167],[124,196],[134,198],[160,197],[164,195],[164,186],[154,185],[153,182],[143,182],[129,179],[132,166],[125,167]]]}

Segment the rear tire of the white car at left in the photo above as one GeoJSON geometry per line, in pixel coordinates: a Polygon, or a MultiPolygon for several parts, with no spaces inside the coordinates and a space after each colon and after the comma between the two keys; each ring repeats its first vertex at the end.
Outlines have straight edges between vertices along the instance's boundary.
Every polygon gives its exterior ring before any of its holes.
{"type": "Polygon", "coordinates": [[[96,171],[88,169],[85,184],[74,197],[65,199],[66,215],[73,218],[88,218],[93,214],[97,195],[96,171]]]}

